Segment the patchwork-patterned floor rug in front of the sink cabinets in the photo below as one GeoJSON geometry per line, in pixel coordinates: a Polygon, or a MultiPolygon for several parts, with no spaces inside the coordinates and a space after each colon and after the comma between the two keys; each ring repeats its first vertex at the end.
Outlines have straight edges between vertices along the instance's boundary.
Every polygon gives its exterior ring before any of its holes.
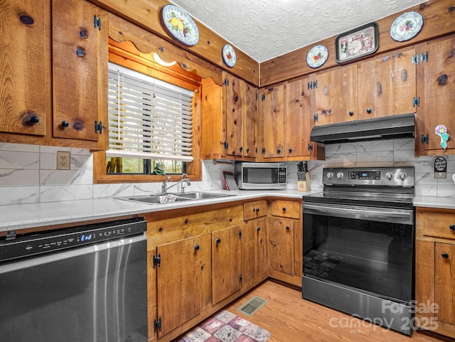
{"type": "Polygon", "coordinates": [[[264,342],[270,336],[269,331],[223,310],[203,321],[178,342],[264,342]]]}

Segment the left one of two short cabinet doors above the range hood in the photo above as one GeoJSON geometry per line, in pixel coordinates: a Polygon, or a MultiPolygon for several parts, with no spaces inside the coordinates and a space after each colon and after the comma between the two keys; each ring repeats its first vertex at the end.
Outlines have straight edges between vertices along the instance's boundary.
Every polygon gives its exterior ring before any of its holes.
{"type": "Polygon", "coordinates": [[[357,119],[357,65],[311,75],[311,121],[314,125],[357,119]]]}

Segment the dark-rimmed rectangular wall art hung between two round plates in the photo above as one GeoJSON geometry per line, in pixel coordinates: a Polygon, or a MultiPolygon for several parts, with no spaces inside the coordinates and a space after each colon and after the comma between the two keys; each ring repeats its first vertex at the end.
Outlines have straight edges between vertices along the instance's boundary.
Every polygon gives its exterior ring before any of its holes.
{"type": "Polygon", "coordinates": [[[341,33],[335,39],[336,62],[343,63],[348,60],[370,55],[378,50],[378,24],[368,23],[341,33]]]}

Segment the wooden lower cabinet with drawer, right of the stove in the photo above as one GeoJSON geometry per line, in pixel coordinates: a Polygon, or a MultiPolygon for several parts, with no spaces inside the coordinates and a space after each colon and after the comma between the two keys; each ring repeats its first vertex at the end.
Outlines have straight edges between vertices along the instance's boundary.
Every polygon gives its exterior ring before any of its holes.
{"type": "Polygon", "coordinates": [[[455,210],[417,208],[416,326],[455,338],[455,210]]]}

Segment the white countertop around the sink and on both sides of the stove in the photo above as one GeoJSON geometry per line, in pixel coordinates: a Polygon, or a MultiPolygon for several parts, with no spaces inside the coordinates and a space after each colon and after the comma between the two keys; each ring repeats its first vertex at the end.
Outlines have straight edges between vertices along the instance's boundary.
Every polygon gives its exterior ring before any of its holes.
{"type": "MultiPolygon", "coordinates": [[[[46,225],[60,225],[68,223],[78,224],[84,223],[84,221],[102,218],[115,218],[124,215],[137,215],[168,209],[187,208],[189,206],[210,205],[239,200],[243,201],[262,196],[301,198],[304,195],[315,193],[317,191],[218,190],[210,192],[232,194],[235,196],[166,204],[141,204],[131,201],[123,201],[116,198],[99,198],[79,201],[0,205],[0,231],[20,230],[25,228],[36,228],[44,227],[46,225]]],[[[455,198],[416,196],[414,198],[414,206],[455,209],[455,198]]]]}

